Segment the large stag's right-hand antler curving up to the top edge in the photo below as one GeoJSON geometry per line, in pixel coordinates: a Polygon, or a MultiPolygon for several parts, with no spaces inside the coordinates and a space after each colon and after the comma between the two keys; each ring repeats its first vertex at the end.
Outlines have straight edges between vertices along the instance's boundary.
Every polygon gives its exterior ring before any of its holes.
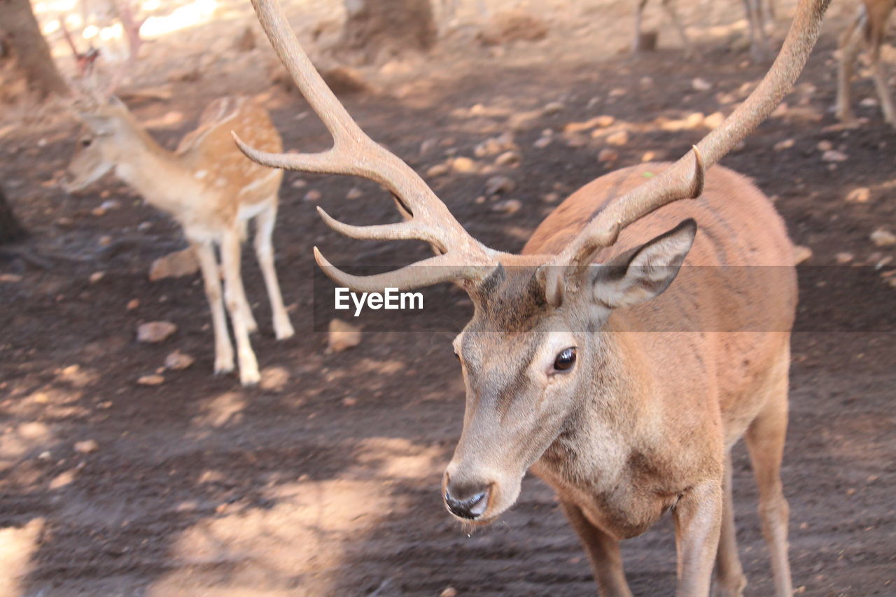
{"type": "Polygon", "coordinates": [[[787,39],[769,72],[753,93],[718,128],[694,146],[694,165],[688,154],[658,176],[618,197],[557,255],[556,264],[587,264],[594,251],[616,242],[622,229],[666,203],[694,198],[702,191],[704,169],[709,169],[771,114],[806,65],[818,39],[824,12],[831,0],[802,0],[787,39]]]}

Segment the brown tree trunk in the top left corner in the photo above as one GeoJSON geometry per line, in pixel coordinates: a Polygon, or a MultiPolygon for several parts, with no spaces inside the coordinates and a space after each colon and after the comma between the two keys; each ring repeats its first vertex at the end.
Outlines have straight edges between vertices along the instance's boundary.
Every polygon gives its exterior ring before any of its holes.
{"type": "Polygon", "coordinates": [[[68,93],[68,86],[50,56],[47,40],[40,34],[30,0],[0,0],[0,15],[3,15],[0,29],[30,91],[39,99],[50,93],[68,93]]]}

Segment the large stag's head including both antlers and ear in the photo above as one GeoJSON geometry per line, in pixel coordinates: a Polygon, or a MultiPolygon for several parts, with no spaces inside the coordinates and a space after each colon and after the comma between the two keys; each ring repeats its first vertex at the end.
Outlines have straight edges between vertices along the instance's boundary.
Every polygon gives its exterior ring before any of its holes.
{"type": "Polygon", "coordinates": [[[331,150],[317,154],[256,151],[252,160],[274,168],[349,174],[386,186],[405,221],[351,226],[318,208],[323,221],[351,238],[429,242],[436,256],[392,273],[353,276],[314,258],[333,281],[359,291],[412,289],[458,281],[474,304],[454,340],[467,391],[460,443],[444,475],[445,505],[467,521],[487,523],[513,505],[523,474],[563,436],[582,396],[616,399],[613,372],[620,355],[602,342],[609,315],[659,295],[675,279],[696,233],[683,221],[644,239],[602,267],[592,265],[622,229],[662,205],[702,192],[710,168],[767,117],[801,72],[818,36],[827,0],[800,0],[771,70],[728,119],[682,159],[599,212],[556,255],[511,255],[479,243],[454,220],[420,177],[364,134],[327,89],[289,29],[275,0],[253,0],[280,60],[332,133],[331,150]]]}

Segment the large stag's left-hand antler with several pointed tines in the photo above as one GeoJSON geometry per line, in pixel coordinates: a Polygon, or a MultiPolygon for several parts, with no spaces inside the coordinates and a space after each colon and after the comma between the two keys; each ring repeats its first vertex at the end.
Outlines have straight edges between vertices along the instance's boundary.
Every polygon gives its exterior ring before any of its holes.
{"type": "Polygon", "coordinates": [[[320,153],[267,153],[243,143],[236,134],[239,149],[250,160],[271,168],[302,170],[322,174],[348,174],[373,180],[398,198],[407,221],[379,226],[350,226],[332,219],[318,209],[332,229],[352,238],[379,240],[419,239],[432,244],[439,253],[424,261],[392,273],[352,276],[333,267],[314,248],[314,258],[333,281],[356,290],[383,290],[386,286],[419,288],[440,281],[478,281],[487,269],[496,265],[498,255],[472,238],[454,219],[448,208],[408,164],[375,143],[349,116],[323,78],[314,69],[296,34],[289,27],[275,0],[252,0],[264,32],[287,67],[299,91],[323,120],[333,137],[333,146],[320,153]],[[433,267],[418,268],[417,265],[433,267]],[[437,267],[436,267],[437,266],[437,267]],[[412,269],[413,268],[413,269],[412,269]]]}

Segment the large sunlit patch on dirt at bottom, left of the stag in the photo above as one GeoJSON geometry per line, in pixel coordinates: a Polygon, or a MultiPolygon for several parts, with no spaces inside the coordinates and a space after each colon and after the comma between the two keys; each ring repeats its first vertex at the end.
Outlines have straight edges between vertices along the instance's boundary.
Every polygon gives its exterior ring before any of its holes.
{"type": "Polygon", "coordinates": [[[332,575],[322,573],[340,567],[359,528],[404,506],[383,489],[378,480],[297,482],[271,489],[271,508],[205,518],[175,541],[175,570],[147,595],[328,594],[332,575]]]}

